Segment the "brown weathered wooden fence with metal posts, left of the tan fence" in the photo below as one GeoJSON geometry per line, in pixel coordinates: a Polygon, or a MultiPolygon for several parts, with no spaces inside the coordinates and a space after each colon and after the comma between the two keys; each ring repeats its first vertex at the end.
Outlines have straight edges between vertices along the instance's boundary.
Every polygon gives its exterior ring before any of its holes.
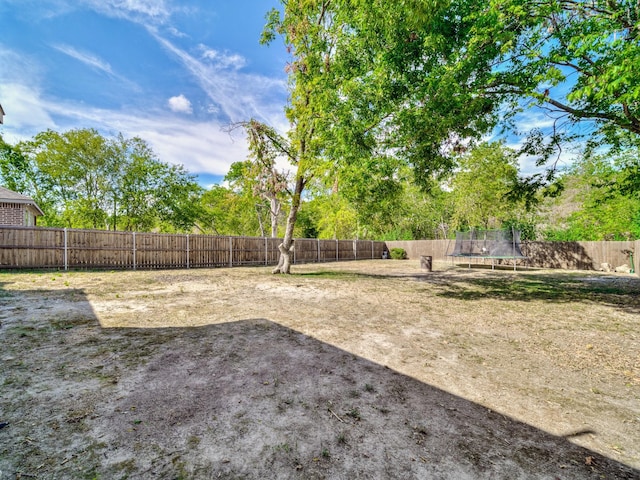
{"type": "MultiPolygon", "coordinates": [[[[278,238],[0,226],[0,269],[275,265],[278,238]]],[[[293,263],[382,258],[384,242],[296,239],[293,263]]]]}

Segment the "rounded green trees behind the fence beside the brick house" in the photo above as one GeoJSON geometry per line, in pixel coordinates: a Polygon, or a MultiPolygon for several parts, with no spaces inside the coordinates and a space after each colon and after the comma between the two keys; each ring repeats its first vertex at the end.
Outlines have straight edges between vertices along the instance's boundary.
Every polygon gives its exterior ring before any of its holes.
{"type": "Polygon", "coordinates": [[[2,182],[36,201],[43,226],[178,232],[201,214],[195,178],[139,138],[47,130],[2,151],[2,182]]]}

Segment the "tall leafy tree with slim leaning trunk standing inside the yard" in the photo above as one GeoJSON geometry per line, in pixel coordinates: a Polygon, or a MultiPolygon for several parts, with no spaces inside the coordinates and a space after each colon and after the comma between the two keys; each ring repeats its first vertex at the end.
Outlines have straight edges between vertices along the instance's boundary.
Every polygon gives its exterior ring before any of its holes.
{"type": "Polygon", "coordinates": [[[291,129],[277,142],[295,167],[274,272],[289,272],[302,192],[312,178],[333,182],[348,171],[341,182],[351,191],[386,194],[408,164],[429,185],[452,167],[461,139],[494,125],[492,100],[469,93],[449,67],[468,40],[470,5],[289,0],[269,14],[264,40],[281,34],[291,54],[291,129]],[[369,179],[381,187],[377,193],[369,179]]]}

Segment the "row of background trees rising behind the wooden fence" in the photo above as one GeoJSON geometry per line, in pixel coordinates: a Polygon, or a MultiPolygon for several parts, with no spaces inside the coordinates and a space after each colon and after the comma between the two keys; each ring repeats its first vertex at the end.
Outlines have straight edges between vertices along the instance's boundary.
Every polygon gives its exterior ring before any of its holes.
{"type": "MultiPolygon", "coordinates": [[[[530,240],[640,238],[640,198],[629,183],[638,159],[628,152],[576,162],[558,174],[553,195],[539,192],[533,204],[515,194],[518,155],[504,143],[480,143],[455,162],[428,190],[408,167],[377,180],[348,169],[330,182],[313,180],[294,236],[438,239],[513,226],[530,240]]],[[[231,164],[223,184],[205,189],[140,138],[90,129],[48,130],[15,145],[0,137],[0,184],[36,201],[41,226],[281,237],[291,180],[274,152],[252,150],[231,164]]]]}

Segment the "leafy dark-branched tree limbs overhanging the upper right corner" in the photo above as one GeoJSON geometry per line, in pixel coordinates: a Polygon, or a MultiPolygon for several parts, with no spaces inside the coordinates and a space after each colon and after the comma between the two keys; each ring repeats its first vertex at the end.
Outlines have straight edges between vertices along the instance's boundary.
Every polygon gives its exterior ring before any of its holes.
{"type": "MultiPolygon", "coordinates": [[[[505,121],[533,106],[544,112],[551,121],[546,133],[524,132],[523,151],[536,155],[540,165],[553,171],[566,140],[575,136],[586,136],[589,150],[637,150],[637,1],[492,0],[468,21],[472,36],[453,67],[473,72],[472,92],[506,102],[505,121]]],[[[540,173],[527,180],[536,187],[549,178],[540,173]]]]}

